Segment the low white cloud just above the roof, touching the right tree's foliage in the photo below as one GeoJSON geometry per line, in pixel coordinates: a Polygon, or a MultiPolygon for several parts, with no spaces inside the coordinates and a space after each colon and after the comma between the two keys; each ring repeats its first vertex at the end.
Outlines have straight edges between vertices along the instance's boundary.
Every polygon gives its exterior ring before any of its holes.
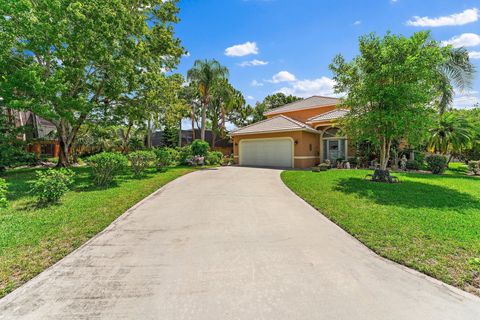
{"type": "Polygon", "coordinates": [[[318,79],[305,79],[292,82],[289,87],[283,87],[278,92],[292,94],[294,96],[308,98],[314,95],[332,96],[334,95],[333,86],[335,81],[328,77],[318,79]]]}

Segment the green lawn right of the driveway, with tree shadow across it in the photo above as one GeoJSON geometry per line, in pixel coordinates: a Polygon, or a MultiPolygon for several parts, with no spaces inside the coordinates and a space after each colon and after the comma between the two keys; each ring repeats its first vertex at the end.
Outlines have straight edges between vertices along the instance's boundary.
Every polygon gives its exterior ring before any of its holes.
{"type": "Polygon", "coordinates": [[[395,174],[400,184],[365,181],[367,170],[282,179],[381,256],[480,295],[480,179],[454,171],[395,174]]]}

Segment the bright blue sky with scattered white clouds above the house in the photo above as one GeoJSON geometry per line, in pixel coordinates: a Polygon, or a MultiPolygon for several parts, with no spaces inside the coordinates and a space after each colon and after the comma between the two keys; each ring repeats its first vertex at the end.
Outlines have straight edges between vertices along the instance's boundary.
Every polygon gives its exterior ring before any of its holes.
{"type": "Polygon", "coordinates": [[[337,53],[358,53],[369,32],[411,35],[431,30],[438,41],[468,45],[478,74],[474,88],[458,93],[456,107],[480,101],[480,3],[478,0],[181,0],[176,26],[189,56],[219,60],[247,102],[285,92],[331,95],[328,64],[337,53]]]}

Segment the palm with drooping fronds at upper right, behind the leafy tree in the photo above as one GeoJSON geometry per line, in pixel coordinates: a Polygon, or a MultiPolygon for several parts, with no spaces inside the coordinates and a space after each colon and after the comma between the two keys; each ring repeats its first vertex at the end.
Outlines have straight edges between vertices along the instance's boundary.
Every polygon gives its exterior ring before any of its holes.
{"type": "Polygon", "coordinates": [[[443,114],[453,102],[454,88],[464,91],[472,87],[475,66],[470,62],[465,48],[450,48],[447,59],[438,70],[438,111],[443,114]]]}

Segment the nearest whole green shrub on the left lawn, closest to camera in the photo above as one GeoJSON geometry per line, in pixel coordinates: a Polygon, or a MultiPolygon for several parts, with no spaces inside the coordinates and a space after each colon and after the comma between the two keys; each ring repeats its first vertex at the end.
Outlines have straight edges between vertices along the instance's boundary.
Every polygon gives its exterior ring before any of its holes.
{"type": "Polygon", "coordinates": [[[32,193],[37,197],[39,204],[58,202],[73,183],[73,171],[65,168],[37,171],[36,174],[37,179],[33,183],[32,193]]]}

